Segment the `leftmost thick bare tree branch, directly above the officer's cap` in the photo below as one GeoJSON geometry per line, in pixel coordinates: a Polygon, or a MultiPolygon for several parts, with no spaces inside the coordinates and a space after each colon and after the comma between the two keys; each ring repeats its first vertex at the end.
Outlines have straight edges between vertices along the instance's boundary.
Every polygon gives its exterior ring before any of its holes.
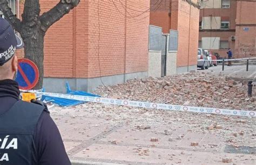
{"type": "Polygon", "coordinates": [[[18,32],[21,32],[21,20],[16,18],[14,13],[12,13],[6,0],[0,0],[0,10],[3,12],[5,19],[9,21],[12,27],[14,27],[18,32]]]}

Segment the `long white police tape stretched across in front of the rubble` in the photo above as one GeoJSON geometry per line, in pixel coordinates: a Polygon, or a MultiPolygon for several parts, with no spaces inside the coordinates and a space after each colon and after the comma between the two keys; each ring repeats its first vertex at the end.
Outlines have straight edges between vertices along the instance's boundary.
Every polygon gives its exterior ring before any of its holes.
{"type": "Polygon", "coordinates": [[[171,110],[171,111],[200,112],[200,113],[212,113],[212,114],[226,114],[226,115],[233,115],[233,116],[256,117],[256,111],[216,109],[216,108],[210,108],[210,107],[196,107],[196,106],[186,106],[186,105],[139,102],[139,101],[129,101],[129,100],[123,100],[123,99],[113,99],[113,98],[103,98],[103,97],[55,94],[55,93],[38,92],[38,91],[34,91],[34,92],[38,95],[73,99],[77,101],[85,101],[85,102],[93,102],[93,103],[144,107],[144,108],[151,108],[151,109],[171,110]]]}

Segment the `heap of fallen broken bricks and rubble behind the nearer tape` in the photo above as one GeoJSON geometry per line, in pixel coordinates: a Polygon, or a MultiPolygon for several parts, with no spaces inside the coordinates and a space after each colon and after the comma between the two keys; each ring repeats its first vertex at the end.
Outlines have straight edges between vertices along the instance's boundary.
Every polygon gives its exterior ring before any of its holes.
{"type": "Polygon", "coordinates": [[[247,81],[228,80],[211,73],[187,73],[130,80],[99,87],[102,97],[223,109],[256,110],[256,90],[247,96],[247,81]]]}

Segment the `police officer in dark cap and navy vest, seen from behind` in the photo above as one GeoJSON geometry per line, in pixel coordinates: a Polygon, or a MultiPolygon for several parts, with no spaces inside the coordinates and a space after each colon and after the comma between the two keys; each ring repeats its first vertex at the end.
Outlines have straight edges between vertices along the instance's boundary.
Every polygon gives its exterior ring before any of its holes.
{"type": "Polygon", "coordinates": [[[19,100],[16,49],[23,42],[0,18],[0,164],[71,164],[49,111],[19,100]]]}

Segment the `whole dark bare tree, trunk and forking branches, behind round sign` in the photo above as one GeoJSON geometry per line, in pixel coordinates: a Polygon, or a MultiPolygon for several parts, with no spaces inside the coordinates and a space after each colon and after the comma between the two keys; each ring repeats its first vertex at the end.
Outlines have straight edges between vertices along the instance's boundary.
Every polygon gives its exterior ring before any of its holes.
{"type": "Polygon", "coordinates": [[[70,12],[80,0],[60,0],[48,12],[40,13],[39,0],[26,0],[22,21],[14,16],[6,0],[0,0],[0,10],[9,23],[21,34],[24,41],[25,58],[37,65],[39,81],[34,89],[43,88],[44,77],[44,36],[49,27],[70,12]]]}

